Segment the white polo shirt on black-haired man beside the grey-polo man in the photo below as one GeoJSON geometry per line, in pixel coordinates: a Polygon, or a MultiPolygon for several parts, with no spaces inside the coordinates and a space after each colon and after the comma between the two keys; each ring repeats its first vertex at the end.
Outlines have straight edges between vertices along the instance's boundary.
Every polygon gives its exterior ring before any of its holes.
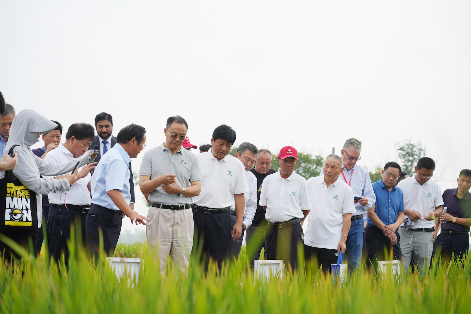
{"type": "Polygon", "coordinates": [[[227,155],[220,161],[211,153],[196,154],[201,171],[201,192],[193,202],[201,207],[225,208],[234,205],[234,195],[249,192],[242,162],[227,155]]]}

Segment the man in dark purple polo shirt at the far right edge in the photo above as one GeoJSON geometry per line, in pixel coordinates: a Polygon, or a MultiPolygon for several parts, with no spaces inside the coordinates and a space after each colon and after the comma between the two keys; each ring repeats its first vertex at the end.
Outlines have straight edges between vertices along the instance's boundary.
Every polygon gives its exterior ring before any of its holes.
{"type": "MultiPolygon", "coordinates": [[[[437,237],[437,250],[447,260],[465,258],[469,250],[469,236],[471,225],[471,170],[463,169],[460,172],[458,187],[443,192],[443,209],[447,213],[440,216],[441,233],[437,237]]],[[[435,253],[435,252],[434,252],[435,253]]]]}

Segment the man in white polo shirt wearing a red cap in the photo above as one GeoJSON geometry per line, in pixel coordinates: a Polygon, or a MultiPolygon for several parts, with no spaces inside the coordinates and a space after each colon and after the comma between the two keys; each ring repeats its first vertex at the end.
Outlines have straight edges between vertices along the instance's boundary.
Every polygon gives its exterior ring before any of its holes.
{"type": "Polygon", "coordinates": [[[278,154],[280,169],[263,180],[260,206],[267,211],[267,258],[283,259],[294,269],[298,264],[298,244],[304,233],[302,222],[311,209],[308,183],[294,172],[298,152],[284,146],[278,154]]]}

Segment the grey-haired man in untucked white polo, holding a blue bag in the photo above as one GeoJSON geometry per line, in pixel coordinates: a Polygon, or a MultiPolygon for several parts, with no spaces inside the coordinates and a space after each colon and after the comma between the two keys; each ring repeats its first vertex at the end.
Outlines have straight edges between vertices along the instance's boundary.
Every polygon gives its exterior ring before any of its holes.
{"type": "Polygon", "coordinates": [[[322,266],[324,274],[337,264],[336,253],[345,252],[352,213],[356,211],[353,190],[339,176],[343,160],[330,154],[325,158],[324,175],[308,180],[309,197],[313,206],[309,212],[304,238],[306,262],[312,258],[322,266]]]}

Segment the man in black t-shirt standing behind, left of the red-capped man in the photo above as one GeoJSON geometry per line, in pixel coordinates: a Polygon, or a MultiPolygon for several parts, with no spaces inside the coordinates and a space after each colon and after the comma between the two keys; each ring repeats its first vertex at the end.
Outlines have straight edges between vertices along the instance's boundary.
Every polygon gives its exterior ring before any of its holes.
{"type": "MultiPolygon", "coordinates": [[[[266,149],[260,149],[257,159],[255,160],[255,168],[251,169],[252,173],[257,177],[257,211],[252,220],[252,225],[245,231],[245,242],[247,243],[247,257],[250,258],[250,265],[253,266],[253,261],[260,258],[262,247],[265,246],[265,230],[268,221],[265,220],[265,209],[260,206],[260,190],[263,179],[276,171],[270,169],[271,166],[271,153],[266,149]],[[251,254],[253,252],[253,254],[251,254]]],[[[265,257],[266,257],[265,252],[265,257]]],[[[266,258],[265,258],[266,259],[266,258]]]]}

